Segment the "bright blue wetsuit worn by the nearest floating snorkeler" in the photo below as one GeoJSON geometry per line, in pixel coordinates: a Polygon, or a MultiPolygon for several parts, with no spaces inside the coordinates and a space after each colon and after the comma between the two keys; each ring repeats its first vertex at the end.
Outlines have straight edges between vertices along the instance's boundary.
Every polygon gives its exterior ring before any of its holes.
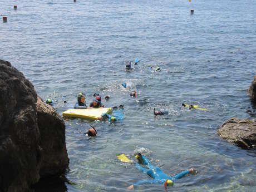
{"type": "Polygon", "coordinates": [[[144,165],[146,165],[147,168],[149,168],[149,169],[144,168],[143,166],[141,166],[138,163],[136,163],[136,168],[139,169],[140,171],[142,171],[143,173],[151,176],[151,178],[153,178],[154,180],[137,181],[137,183],[135,183],[134,186],[146,184],[146,183],[150,183],[150,184],[163,183],[164,184],[166,179],[175,181],[176,179],[180,179],[184,175],[189,174],[189,170],[186,170],[186,171],[183,171],[183,172],[175,175],[174,177],[168,176],[159,167],[151,165],[150,161],[145,156],[142,155],[141,157],[142,157],[142,161],[143,161],[144,165]]]}

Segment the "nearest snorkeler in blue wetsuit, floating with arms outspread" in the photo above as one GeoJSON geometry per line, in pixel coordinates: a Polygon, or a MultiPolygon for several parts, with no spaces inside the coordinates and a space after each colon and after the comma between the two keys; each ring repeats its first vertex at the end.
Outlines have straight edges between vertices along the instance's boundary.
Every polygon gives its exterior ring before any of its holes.
{"type": "Polygon", "coordinates": [[[174,181],[176,179],[180,179],[185,175],[188,174],[195,174],[196,171],[194,169],[189,169],[186,171],[183,171],[177,175],[175,175],[174,177],[168,176],[164,173],[163,170],[161,170],[159,167],[151,165],[150,161],[144,156],[141,155],[140,153],[138,155],[135,156],[139,163],[142,165],[145,165],[147,167],[144,168],[144,166],[141,166],[140,164],[136,163],[136,168],[140,171],[142,171],[143,173],[151,176],[151,178],[153,178],[154,180],[141,180],[141,181],[137,181],[137,183],[130,185],[129,187],[127,187],[127,189],[134,189],[134,187],[141,185],[141,184],[154,184],[154,183],[163,183],[165,190],[167,191],[167,186],[173,186],[174,181]]]}

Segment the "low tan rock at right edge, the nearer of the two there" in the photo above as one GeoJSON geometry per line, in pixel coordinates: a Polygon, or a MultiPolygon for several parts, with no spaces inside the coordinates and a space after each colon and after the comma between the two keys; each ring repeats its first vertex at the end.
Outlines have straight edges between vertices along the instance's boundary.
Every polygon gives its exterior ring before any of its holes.
{"type": "Polygon", "coordinates": [[[218,129],[218,135],[243,149],[256,147],[256,120],[232,118],[218,129]]]}

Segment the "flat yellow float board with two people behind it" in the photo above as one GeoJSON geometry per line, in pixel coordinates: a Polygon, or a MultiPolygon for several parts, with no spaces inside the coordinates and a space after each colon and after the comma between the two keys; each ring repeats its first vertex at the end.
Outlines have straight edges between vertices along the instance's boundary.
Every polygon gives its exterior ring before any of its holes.
{"type": "Polygon", "coordinates": [[[113,109],[100,108],[100,109],[69,109],[62,113],[63,117],[78,117],[87,120],[97,120],[105,112],[109,114],[113,109]]]}

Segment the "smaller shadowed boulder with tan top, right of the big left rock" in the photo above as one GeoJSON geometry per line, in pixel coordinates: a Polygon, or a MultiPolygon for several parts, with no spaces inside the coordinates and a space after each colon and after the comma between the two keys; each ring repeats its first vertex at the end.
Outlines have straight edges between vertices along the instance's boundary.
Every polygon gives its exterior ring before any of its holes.
{"type": "Polygon", "coordinates": [[[61,175],[68,165],[65,123],[40,97],[37,97],[36,109],[43,154],[40,176],[61,175]]]}

